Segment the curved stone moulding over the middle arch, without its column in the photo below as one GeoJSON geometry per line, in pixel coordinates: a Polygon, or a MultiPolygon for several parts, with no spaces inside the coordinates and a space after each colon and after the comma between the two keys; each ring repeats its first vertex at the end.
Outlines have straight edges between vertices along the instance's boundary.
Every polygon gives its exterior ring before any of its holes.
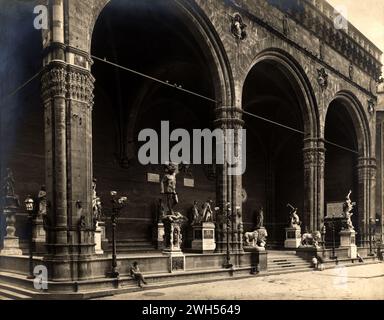
{"type": "Polygon", "coordinates": [[[303,98],[300,99],[300,109],[303,116],[305,138],[317,139],[320,134],[320,120],[316,96],[305,71],[288,52],[279,48],[269,48],[261,51],[246,70],[241,81],[242,88],[240,92],[243,92],[245,81],[252,69],[263,61],[275,62],[287,78],[292,80],[296,95],[303,98]]]}

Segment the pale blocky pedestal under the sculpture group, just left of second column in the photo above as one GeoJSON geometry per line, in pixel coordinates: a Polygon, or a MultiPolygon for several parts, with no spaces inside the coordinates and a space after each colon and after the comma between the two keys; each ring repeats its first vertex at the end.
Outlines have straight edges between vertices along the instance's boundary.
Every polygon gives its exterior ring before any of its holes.
{"type": "Polygon", "coordinates": [[[194,225],[192,250],[200,253],[212,253],[216,249],[215,224],[203,222],[201,225],[194,225]]]}

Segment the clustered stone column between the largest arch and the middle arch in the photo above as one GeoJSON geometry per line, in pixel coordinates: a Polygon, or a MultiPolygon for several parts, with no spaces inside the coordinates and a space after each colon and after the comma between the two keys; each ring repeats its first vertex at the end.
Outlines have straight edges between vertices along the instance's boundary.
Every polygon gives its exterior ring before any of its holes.
{"type": "MultiPolygon", "coordinates": [[[[233,129],[234,151],[238,152],[240,129],[243,127],[241,120],[241,109],[235,107],[219,107],[216,109],[215,127],[224,131],[223,150],[227,154],[227,142],[230,139],[228,129],[233,129]]],[[[220,216],[217,222],[216,251],[226,252],[227,248],[227,225],[226,204],[231,204],[231,223],[229,231],[229,245],[231,252],[243,252],[243,223],[242,223],[242,177],[241,175],[230,175],[228,164],[217,165],[217,206],[220,207],[220,216]]]]}

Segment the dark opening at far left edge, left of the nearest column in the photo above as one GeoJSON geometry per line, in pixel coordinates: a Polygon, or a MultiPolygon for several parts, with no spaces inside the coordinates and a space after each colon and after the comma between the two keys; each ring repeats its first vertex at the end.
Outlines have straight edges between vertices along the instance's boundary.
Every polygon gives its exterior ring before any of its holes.
{"type": "MultiPolygon", "coordinates": [[[[44,116],[40,82],[41,30],[32,27],[35,4],[6,1],[1,4],[0,29],[0,181],[12,170],[15,193],[21,202],[16,219],[20,248],[28,253],[28,217],[24,199],[36,197],[45,181],[44,116]]],[[[3,194],[2,194],[3,196],[3,194]]],[[[3,206],[3,199],[0,200],[3,206]]],[[[5,214],[0,214],[0,249],[6,234],[5,214]]]]}

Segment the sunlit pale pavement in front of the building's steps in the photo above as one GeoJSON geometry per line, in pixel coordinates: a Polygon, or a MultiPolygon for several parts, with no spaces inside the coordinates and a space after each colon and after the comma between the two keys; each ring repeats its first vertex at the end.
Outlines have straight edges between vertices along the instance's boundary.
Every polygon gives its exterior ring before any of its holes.
{"type": "Polygon", "coordinates": [[[384,263],[143,290],[114,300],[384,300],[384,263]]]}

